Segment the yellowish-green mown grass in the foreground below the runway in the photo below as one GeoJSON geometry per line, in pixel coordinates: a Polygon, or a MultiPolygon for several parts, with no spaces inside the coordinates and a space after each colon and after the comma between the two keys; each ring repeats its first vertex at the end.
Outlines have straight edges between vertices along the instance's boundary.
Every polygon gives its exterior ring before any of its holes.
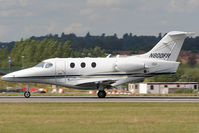
{"type": "Polygon", "coordinates": [[[199,103],[0,103],[0,107],[1,133],[199,131],[199,103]]]}

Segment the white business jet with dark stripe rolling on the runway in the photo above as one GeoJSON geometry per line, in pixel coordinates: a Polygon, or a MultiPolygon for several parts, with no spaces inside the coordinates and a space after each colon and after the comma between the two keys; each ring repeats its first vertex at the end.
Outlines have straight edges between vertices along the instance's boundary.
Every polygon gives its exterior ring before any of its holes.
{"type": "MultiPolygon", "coordinates": [[[[128,57],[53,58],[38,65],[9,73],[4,81],[55,84],[76,89],[96,89],[105,98],[104,89],[160,74],[176,73],[182,44],[191,32],[172,31],[149,52],[128,57]]],[[[24,93],[30,97],[29,87],[24,93]]]]}

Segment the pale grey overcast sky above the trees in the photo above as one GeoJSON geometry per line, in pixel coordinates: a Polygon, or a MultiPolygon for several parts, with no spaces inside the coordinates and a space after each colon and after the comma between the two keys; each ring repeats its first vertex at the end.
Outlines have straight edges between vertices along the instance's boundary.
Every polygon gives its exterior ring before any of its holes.
{"type": "Polygon", "coordinates": [[[0,42],[30,36],[199,35],[199,0],[0,0],[0,42]]]}

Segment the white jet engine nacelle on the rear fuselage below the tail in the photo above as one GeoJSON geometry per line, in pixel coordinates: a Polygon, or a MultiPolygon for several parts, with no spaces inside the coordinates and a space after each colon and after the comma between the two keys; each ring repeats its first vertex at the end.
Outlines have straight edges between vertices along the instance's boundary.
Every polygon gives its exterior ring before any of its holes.
{"type": "Polygon", "coordinates": [[[144,63],[130,62],[130,60],[118,61],[115,65],[116,71],[120,72],[133,72],[138,70],[144,70],[144,63]]]}

